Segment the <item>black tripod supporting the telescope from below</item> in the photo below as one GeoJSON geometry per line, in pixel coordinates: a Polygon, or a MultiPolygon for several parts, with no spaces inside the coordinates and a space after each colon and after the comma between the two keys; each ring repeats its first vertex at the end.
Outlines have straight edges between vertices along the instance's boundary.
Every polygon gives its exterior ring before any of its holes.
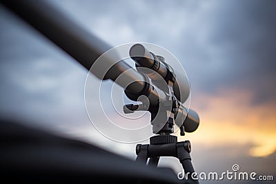
{"type": "MultiPolygon", "coordinates": [[[[176,105],[176,103],[174,103],[176,105]]],[[[143,105],[126,105],[126,109],[133,112],[135,110],[143,110],[144,108],[141,107],[143,105]]],[[[155,119],[157,115],[156,108],[150,108],[151,118],[152,121],[155,119]]],[[[126,110],[127,112],[127,110],[126,110]]],[[[174,114],[175,108],[172,108],[171,114],[174,114]]],[[[129,112],[128,112],[129,113],[129,112]]],[[[165,112],[161,112],[161,115],[167,114],[165,112]]],[[[170,133],[173,132],[173,124],[175,120],[171,117],[168,117],[168,121],[166,121],[164,127],[157,132],[156,136],[150,137],[150,144],[138,144],[136,146],[136,154],[137,162],[141,162],[146,164],[148,159],[148,165],[152,165],[157,167],[160,156],[173,156],[179,159],[184,172],[186,174],[186,179],[190,183],[199,183],[197,180],[192,178],[193,173],[195,170],[193,168],[193,164],[190,158],[191,152],[191,144],[190,141],[182,141],[177,142],[177,136],[172,136],[170,133]]],[[[180,126],[181,135],[184,136],[184,126],[180,126]]]]}

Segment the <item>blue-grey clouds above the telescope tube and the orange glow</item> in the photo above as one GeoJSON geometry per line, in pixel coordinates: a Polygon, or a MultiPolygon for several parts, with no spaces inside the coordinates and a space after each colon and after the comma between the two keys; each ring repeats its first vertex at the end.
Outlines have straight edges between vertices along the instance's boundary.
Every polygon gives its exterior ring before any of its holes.
{"type": "Polygon", "coordinates": [[[184,65],[192,92],[246,88],[253,104],[274,99],[275,1],[55,3],[112,45],[165,47],[184,65]]]}

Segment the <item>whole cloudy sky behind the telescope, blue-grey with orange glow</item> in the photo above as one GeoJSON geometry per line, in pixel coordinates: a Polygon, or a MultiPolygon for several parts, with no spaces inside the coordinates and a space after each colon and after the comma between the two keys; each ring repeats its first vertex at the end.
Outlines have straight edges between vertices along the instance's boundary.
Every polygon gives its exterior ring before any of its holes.
{"type": "MultiPolygon", "coordinates": [[[[276,177],[275,1],[50,1],[110,45],[148,42],[184,66],[201,124],[179,137],[198,171],[276,177]]],[[[87,71],[0,7],[0,114],[135,158],[97,132],[84,104],[87,71]],[[111,147],[112,145],[112,147],[111,147]]],[[[95,79],[97,82],[97,79],[95,79]]],[[[177,172],[175,159],[163,165],[177,172]]]]}

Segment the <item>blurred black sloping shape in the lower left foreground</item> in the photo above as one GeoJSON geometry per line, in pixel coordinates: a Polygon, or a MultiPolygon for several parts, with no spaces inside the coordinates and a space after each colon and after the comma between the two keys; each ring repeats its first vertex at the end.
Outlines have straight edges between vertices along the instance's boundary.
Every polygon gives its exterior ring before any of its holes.
{"type": "Polygon", "coordinates": [[[0,147],[0,177],[8,183],[184,182],[170,169],[135,163],[16,121],[1,120],[0,147]]]}

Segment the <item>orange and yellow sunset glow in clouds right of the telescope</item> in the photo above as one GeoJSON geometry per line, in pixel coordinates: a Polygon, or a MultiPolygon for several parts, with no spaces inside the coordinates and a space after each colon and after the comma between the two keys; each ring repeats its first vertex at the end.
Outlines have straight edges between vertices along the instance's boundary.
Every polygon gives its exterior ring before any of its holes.
{"type": "Polygon", "coordinates": [[[199,129],[189,138],[198,144],[253,145],[250,156],[268,156],[276,149],[275,106],[252,105],[248,90],[219,90],[214,95],[195,94],[192,108],[200,114],[199,129]],[[196,134],[196,135],[195,135],[196,134]]]}

